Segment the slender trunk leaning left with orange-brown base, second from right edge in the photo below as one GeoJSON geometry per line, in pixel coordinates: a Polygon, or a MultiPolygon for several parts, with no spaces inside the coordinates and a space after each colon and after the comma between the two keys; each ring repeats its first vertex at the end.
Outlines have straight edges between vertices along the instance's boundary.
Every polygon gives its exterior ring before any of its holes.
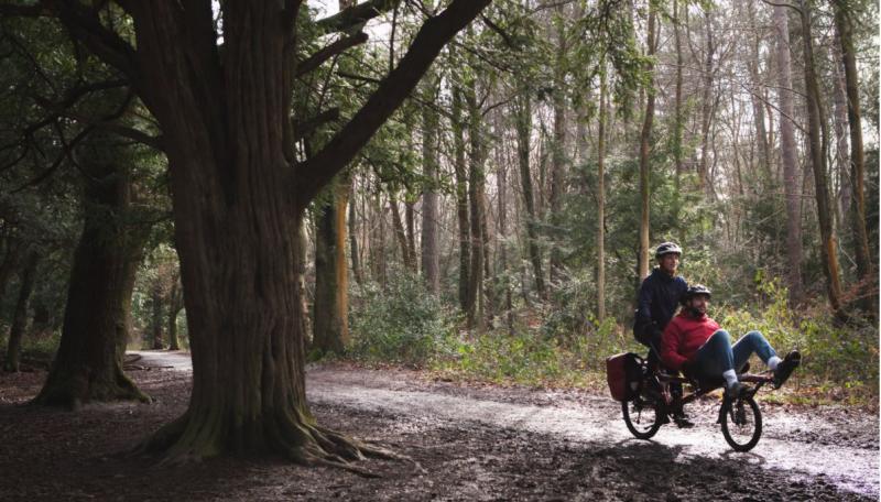
{"type": "Polygon", "coordinates": [[[826,288],[829,296],[829,305],[836,313],[836,316],[844,317],[845,314],[841,305],[841,283],[838,273],[838,248],[835,242],[835,233],[833,231],[833,208],[829,204],[829,187],[826,167],[826,145],[828,138],[826,132],[827,126],[822,106],[823,96],[819,91],[816,70],[814,68],[814,41],[811,28],[811,10],[805,0],[800,0],[800,4],[805,64],[805,87],[807,90],[811,164],[814,168],[814,187],[817,198],[817,219],[819,221],[819,232],[823,240],[820,244],[820,257],[823,258],[823,271],[826,275],[826,288]]]}

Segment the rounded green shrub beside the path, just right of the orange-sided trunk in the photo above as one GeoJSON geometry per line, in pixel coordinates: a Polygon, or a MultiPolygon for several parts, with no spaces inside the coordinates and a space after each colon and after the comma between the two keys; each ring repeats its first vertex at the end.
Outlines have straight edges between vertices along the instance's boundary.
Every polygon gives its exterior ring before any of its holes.
{"type": "Polygon", "coordinates": [[[453,314],[416,277],[393,274],[383,288],[351,292],[350,354],[373,362],[423,364],[453,331],[453,314]]]}

